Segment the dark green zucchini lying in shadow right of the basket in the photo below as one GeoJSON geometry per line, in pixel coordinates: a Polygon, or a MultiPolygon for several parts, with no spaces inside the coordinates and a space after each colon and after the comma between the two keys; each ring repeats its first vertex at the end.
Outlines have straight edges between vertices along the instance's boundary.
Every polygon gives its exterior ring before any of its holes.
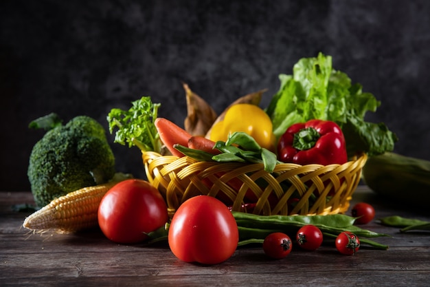
{"type": "Polygon", "coordinates": [[[367,159],[363,180],[387,200],[411,206],[430,204],[430,161],[386,152],[367,159]]]}

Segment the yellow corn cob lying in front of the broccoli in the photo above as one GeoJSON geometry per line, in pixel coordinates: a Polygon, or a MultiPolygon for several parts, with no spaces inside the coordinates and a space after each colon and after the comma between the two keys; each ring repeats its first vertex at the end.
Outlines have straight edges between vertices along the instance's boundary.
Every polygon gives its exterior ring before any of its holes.
{"type": "Polygon", "coordinates": [[[120,174],[122,178],[84,187],[52,200],[25,218],[23,227],[38,232],[52,230],[57,233],[73,233],[98,226],[98,206],[103,196],[118,182],[131,178],[120,174]]]}

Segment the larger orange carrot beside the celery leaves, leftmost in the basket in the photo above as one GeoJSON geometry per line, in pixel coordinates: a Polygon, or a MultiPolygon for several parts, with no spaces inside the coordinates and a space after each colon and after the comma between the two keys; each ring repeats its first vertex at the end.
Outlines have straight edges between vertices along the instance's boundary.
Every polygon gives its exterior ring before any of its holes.
{"type": "Polygon", "coordinates": [[[182,157],[183,153],[175,149],[173,145],[179,144],[188,147],[188,140],[191,138],[191,134],[188,134],[185,129],[182,129],[166,118],[156,118],[154,125],[157,128],[161,141],[166,145],[170,153],[173,156],[182,157]]]}

